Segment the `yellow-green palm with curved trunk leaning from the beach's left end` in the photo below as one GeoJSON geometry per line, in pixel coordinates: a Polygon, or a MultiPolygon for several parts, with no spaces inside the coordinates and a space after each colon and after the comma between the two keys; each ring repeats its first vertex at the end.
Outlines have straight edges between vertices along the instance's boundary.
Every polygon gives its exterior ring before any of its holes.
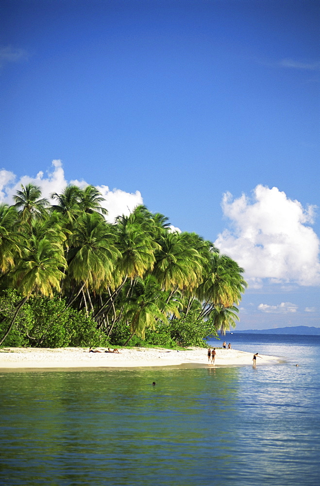
{"type": "Polygon", "coordinates": [[[66,264],[62,246],[52,245],[45,237],[38,240],[31,236],[28,239],[28,247],[25,248],[23,257],[17,261],[11,272],[12,284],[22,295],[22,299],[16,307],[8,329],[0,339],[0,345],[8,336],[20,309],[30,295],[35,293],[52,297],[53,290],[60,291],[60,281],[65,276],[63,269],[66,264]]]}

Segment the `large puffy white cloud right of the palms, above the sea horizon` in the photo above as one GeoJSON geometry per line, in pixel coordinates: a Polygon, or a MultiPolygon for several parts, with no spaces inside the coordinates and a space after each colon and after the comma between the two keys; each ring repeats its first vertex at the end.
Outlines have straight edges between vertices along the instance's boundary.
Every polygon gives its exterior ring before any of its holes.
{"type": "Polygon", "coordinates": [[[308,226],[316,206],[303,208],[276,187],[258,185],[253,198],[238,199],[227,192],[222,209],[232,229],[218,235],[215,244],[244,269],[252,286],[269,283],[318,285],[320,283],[319,238],[308,226]]]}

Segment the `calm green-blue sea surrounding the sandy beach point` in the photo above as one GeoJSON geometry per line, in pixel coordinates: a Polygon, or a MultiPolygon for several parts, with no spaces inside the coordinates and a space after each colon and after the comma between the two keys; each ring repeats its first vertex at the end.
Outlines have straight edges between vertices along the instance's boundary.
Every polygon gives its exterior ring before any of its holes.
{"type": "Polygon", "coordinates": [[[320,336],[229,340],[282,361],[0,370],[0,483],[320,485],[320,336]]]}

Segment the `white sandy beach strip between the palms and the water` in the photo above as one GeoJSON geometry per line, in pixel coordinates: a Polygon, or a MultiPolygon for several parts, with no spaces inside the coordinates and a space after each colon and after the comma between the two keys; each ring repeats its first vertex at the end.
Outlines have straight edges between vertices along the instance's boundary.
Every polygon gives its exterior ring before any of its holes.
{"type": "MultiPolygon", "coordinates": [[[[118,353],[89,353],[89,348],[15,348],[0,350],[0,369],[4,368],[96,368],[172,366],[182,364],[208,365],[207,349],[192,347],[186,350],[162,348],[119,349],[118,353]]],[[[217,349],[215,366],[253,364],[253,353],[236,349],[217,349]]],[[[260,356],[260,355],[259,355],[260,356]]],[[[257,365],[276,364],[280,358],[261,355],[257,365]]]]}

